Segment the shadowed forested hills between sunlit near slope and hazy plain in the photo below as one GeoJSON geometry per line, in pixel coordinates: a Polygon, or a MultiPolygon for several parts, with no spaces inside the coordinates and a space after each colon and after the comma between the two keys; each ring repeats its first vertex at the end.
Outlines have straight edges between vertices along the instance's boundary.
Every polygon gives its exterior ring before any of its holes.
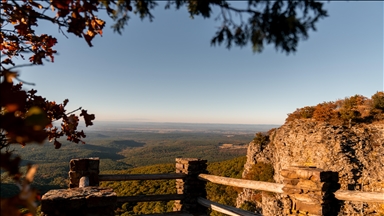
{"type": "MultiPolygon", "coordinates": [[[[13,146],[10,150],[23,158],[23,172],[27,164],[38,164],[33,185],[44,194],[52,188],[67,188],[68,163],[74,158],[99,157],[101,172],[174,163],[176,157],[223,161],[245,155],[246,149],[220,149],[220,143],[244,144],[252,137],[253,134],[227,136],[213,132],[144,133],[114,130],[89,133],[86,144],[62,141],[62,147],[55,149],[52,143],[47,142],[44,145],[13,146]]],[[[12,181],[4,172],[1,182],[1,197],[15,194],[13,187],[7,189],[7,183],[12,181]]]]}

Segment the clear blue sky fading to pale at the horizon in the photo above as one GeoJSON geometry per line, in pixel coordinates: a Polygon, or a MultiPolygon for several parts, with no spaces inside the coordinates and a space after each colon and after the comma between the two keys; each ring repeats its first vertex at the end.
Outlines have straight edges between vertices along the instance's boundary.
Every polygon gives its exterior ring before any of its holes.
{"type": "Polygon", "coordinates": [[[300,107],[383,91],[383,2],[324,3],[329,17],[289,55],[273,46],[260,54],[250,45],[211,46],[220,22],[161,2],[153,22],[132,16],[122,35],[106,19],[92,48],[42,23],[38,31],[58,39],[59,54],[20,68],[20,78],[48,100],[68,98],[68,111],[94,113],[95,124],[283,124],[300,107]]]}

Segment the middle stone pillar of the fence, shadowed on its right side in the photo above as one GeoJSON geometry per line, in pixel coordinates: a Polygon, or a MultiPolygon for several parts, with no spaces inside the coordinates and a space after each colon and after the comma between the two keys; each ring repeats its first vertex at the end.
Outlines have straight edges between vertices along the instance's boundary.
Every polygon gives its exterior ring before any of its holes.
{"type": "Polygon", "coordinates": [[[176,179],[178,194],[184,194],[184,200],[176,200],[173,210],[193,215],[206,215],[207,208],[197,203],[198,197],[206,198],[205,181],[198,179],[201,173],[207,173],[207,160],[195,158],[176,158],[176,173],[184,173],[184,179],[176,179]]]}

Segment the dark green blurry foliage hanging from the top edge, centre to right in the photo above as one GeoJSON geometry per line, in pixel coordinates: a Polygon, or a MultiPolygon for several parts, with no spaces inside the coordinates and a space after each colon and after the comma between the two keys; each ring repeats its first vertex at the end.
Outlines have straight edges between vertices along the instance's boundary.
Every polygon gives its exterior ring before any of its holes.
{"type": "MultiPolygon", "coordinates": [[[[128,23],[131,5],[135,2],[140,18],[148,17],[151,21],[151,10],[157,6],[156,1],[119,1],[117,10],[108,7],[111,1],[104,1],[107,11],[117,22],[113,29],[118,33],[128,23]]],[[[186,6],[191,18],[216,16],[221,26],[211,39],[211,45],[222,43],[229,49],[233,45],[244,47],[251,43],[254,52],[261,52],[266,44],[274,44],[276,49],[288,53],[295,52],[298,42],[308,38],[309,30],[316,30],[315,24],[327,17],[322,2],[314,0],[249,0],[244,6],[236,7],[235,1],[225,0],[168,0],[165,9],[174,6],[177,10],[186,6]],[[213,9],[219,14],[213,14],[213,9]]]]}

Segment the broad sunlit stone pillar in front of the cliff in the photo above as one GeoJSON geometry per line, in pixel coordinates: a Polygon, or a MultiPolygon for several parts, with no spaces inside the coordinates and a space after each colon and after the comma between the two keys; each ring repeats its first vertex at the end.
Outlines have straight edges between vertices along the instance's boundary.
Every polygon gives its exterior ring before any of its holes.
{"type": "Polygon", "coordinates": [[[333,192],[340,188],[338,173],[310,167],[291,167],[280,173],[284,177],[284,214],[337,215],[339,201],[333,192]]]}

